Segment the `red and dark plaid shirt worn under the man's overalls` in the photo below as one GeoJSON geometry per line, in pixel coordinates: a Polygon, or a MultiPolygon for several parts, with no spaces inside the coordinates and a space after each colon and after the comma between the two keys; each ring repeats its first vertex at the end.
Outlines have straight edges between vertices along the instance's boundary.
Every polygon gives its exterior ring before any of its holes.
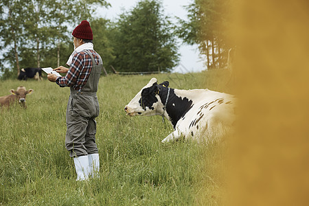
{"type": "MultiPolygon", "coordinates": [[[[89,50],[95,59],[95,63],[99,64],[98,53],[94,50],[89,50]]],[[[75,90],[82,90],[82,87],[87,83],[92,69],[91,56],[86,52],[78,52],[73,56],[69,71],[66,76],[59,77],[56,83],[60,87],[73,87],[75,90]]]]}

